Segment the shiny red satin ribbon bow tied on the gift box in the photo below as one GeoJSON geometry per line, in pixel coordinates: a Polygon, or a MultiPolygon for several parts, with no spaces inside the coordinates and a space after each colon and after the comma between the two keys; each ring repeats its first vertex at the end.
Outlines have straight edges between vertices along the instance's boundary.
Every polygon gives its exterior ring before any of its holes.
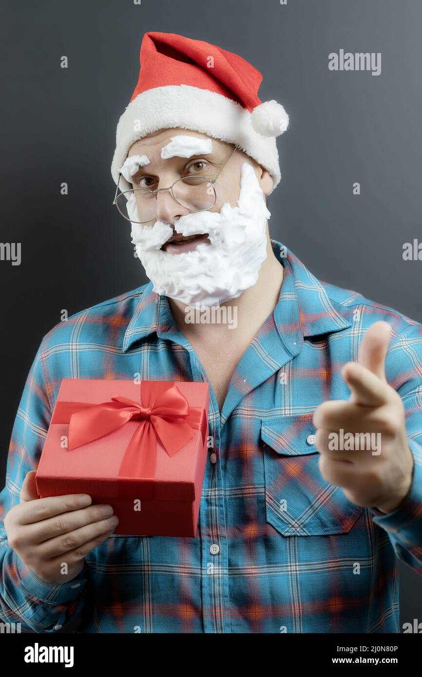
{"type": "Polygon", "coordinates": [[[69,423],[68,450],[108,435],[129,420],[140,424],[131,437],[119,468],[119,477],[153,479],[157,441],[169,456],[180,450],[200,430],[205,443],[207,417],[201,407],[190,407],[188,400],[173,385],[154,397],[154,388],[142,384],[142,406],[135,399],[115,395],[106,402],[58,401],[51,423],[69,423]]]}

